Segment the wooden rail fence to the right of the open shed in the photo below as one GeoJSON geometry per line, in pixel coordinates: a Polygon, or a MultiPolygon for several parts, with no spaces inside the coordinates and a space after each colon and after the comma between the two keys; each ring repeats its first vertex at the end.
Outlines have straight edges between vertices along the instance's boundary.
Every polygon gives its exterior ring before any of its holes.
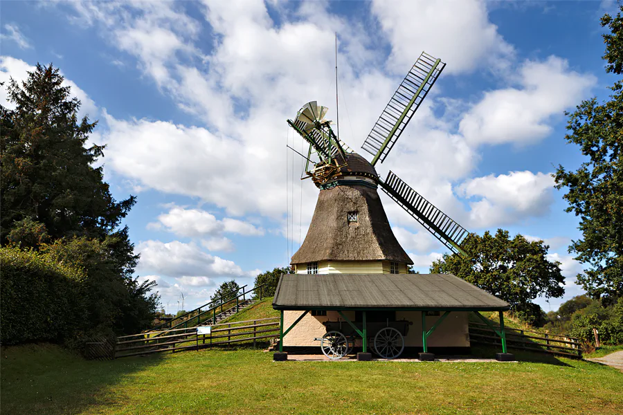
{"type": "MultiPolygon", "coordinates": [[[[506,333],[506,346],[509,349],[552,353],[570,358],[582,357],[581,344],[577,338],[507,327],[504,331],[506,333]],[[530,335],[526,333],[530,333],[530,335]]],[[[469,323],[469,339],[472,343],[491,344],[500,347],[502,344],[500,337],[487,324],[481,323],[469,323]]]]}

